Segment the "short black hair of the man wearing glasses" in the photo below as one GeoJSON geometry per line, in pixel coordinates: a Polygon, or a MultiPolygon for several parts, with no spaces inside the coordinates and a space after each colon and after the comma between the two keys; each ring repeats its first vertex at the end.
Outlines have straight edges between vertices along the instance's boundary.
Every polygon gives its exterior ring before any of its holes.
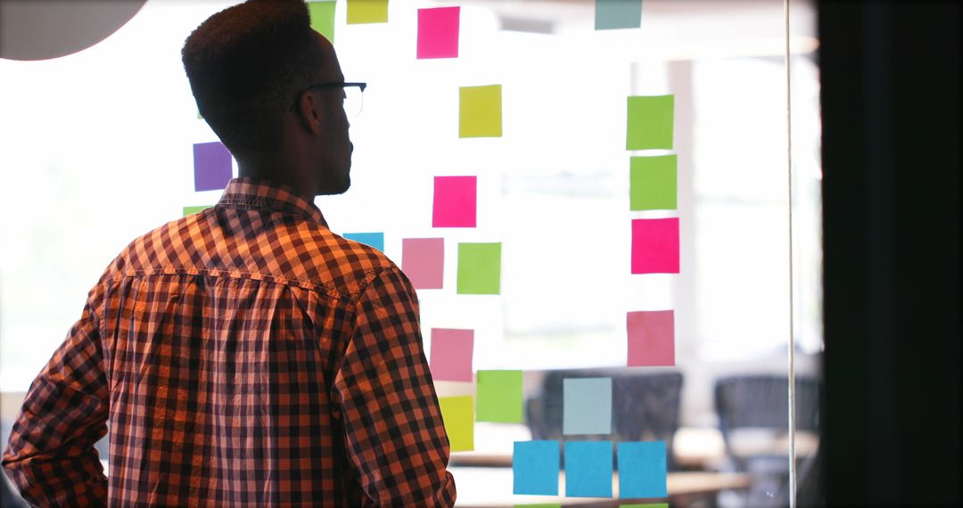
{"type": "Polygon", "coordinates": [[[197,111],[235,157],[278,146],[283,115],[324,61],[315,34],[302,0],[248,0],[184,41],[197,111]]]}

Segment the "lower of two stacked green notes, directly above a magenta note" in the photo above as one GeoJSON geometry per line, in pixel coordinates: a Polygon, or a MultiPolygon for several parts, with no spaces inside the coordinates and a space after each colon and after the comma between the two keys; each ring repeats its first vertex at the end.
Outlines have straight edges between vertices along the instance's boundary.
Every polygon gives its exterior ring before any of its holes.
{"type": "Polygon", "coordinates": [[[677,205],[675,154],[629,159],[629,210],[675,210],[677,205]]]}

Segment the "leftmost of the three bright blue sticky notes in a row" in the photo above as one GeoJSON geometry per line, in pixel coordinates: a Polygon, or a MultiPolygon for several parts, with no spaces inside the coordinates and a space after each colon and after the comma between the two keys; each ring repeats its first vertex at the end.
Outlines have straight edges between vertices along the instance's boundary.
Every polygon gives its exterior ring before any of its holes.
{"type": "Polygon", "coordinates": [[[558,441],[516,441],[511,458],[511,492],[559,495],[559,463],[558,441]]]}

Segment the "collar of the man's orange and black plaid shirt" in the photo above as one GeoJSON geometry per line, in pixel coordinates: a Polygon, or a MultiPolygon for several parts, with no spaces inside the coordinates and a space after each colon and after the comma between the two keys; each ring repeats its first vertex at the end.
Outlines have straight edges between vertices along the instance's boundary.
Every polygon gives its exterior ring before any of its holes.
{"type": "Polygon", "coordinates": [[[327,227],[325,216],[314,202],[296,194],[290,187],[275,184],[268,180],[253,178],[234,178],[227,183],[221,194],[219,206],[271,210],[304,216],[313,222],[327,227]]]}

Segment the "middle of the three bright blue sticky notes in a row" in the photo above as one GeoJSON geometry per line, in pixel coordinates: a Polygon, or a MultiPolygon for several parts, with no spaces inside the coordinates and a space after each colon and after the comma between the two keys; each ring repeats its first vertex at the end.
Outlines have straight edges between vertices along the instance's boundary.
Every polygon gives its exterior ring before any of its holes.
{"type": "Polygon", "coordinates": [[[612,442],[565,444],[565,496],[612,497],[612,442]]]}

